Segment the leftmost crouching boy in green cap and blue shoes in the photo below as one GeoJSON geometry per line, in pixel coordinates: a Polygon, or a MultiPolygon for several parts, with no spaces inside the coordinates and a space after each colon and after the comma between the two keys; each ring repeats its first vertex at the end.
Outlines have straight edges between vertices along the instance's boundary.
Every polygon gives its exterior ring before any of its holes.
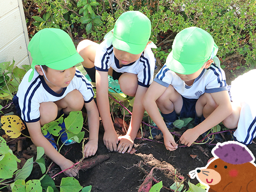
{"type": "MultiPolygon", "coordinates": [[[[94,92],[88,80],[76,69],[75,65],[83,58],[63,30],[45,28],[38,31],[28,44],[28,50],[33,58],[32,69],[22,79],[13,102],[18,115],[26,122],[32,142],[43,147],[46,156],[64,170],[74,163],[56,150],[56,144],[46,139],[54,138],[49,132],[44,136],[41,127],[63,113],[68,116],[71,111],[80,111],[85,106],[90,136],[84,153],[86,157],[94,155],[98,149],[99,129],[94,92]]],[[[60,126],[61,132],[64,132],[64,122],[60,126]]],[[[61,141],[64,144],[73,143],[67,139],[64,132],[61,141]]],[[[76,176],[77,170],[68,169],[64,174],[76,176]]]]}

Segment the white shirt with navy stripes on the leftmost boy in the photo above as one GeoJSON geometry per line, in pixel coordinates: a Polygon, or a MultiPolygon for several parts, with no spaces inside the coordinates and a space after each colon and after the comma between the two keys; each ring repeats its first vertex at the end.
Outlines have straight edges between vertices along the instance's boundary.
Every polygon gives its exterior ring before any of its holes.
{"type": "MultiPolygon", "coordinates": [[[[50,89],[43,76],[36,71],[32,80],[28,82],[31,71],[32,69],[25,74],[16,94],[21,110],[21,118],[25,122],[37,122],[40,120],[40,103],[58,101],[75,89],[82,94],[84,102],[88,103],[93,100],[94,92],[92,86],[78,69],[76,69],[75,76],[70,84],[63,88],[59,94],[50,89]]],[[[74,102],[76,101],[74,100],[74,102]]]]}

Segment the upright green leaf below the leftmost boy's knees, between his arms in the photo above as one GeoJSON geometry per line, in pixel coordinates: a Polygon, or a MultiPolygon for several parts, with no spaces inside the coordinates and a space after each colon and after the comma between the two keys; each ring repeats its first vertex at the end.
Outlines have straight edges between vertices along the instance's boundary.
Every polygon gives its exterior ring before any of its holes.
{"type": "Polygon", "coordinates": [[[82,111],[72,111],[69,116],[64,119],[66,129],[69,132],[78,134],[83,127],[84,118],[82,111]]]}

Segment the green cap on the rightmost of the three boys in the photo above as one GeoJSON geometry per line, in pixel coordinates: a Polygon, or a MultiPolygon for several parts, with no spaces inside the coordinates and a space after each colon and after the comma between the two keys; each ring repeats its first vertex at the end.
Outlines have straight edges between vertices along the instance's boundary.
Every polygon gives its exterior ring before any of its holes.
{"type": "Polygon", "coordinates": [[[208,32],[189,27],[175,36],[166,66],[179,74],[192,74],[216,54],[214,50],[218,50],[218,47],[208,32]]]}

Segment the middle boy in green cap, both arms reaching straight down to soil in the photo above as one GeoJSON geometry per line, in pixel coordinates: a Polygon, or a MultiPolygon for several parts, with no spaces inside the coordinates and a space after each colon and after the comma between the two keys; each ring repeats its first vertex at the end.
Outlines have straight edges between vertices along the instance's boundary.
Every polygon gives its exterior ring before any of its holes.
{"type": "Polygon", "coordinates": [[[155,67],[151,48],[156,46],[149,41],[150,33],[150,20],[139,11],[128,11],[118,18],[101,44],[83,40],[77,46],[84,58],[82,65],[92,82],[96,82],[97,106],[105,130],[103,141],[110,151],[130,152],[140,128],[145,111],[142,98],[153,81],[155,67]],[[110,116],[108,75],[118,80],[124,94],[135,96],[125,136],[117,136],[110,116]]]}

